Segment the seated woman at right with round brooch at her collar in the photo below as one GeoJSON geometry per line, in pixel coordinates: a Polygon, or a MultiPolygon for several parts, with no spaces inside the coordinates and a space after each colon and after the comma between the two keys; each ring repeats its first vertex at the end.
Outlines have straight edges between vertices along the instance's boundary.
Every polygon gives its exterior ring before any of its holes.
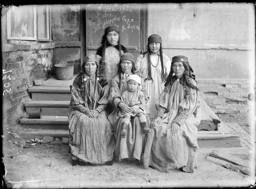
{"type": "Polygon", "coordinates": [[[144,167],[152,166],[162,172],[194,172],[198,166],[197,126],[201,109],[195,75],[187,57],[172,58],[156,109],[152,133],[147,136],[144,167]]]}

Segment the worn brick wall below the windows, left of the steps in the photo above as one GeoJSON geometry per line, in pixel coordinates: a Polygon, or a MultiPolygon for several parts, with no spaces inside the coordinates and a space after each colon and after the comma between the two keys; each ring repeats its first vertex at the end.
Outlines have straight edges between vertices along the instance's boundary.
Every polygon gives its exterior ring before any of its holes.
{"type": "Polygon", "coordinates": [[[33,80],[51,76],[54,44],[4,44],[2,47],[3,92],[7,89],[3,94],[3,124],[11,125],[19,122],[24,103],[30,99],[28,88],[33,86],[33,80]]]}

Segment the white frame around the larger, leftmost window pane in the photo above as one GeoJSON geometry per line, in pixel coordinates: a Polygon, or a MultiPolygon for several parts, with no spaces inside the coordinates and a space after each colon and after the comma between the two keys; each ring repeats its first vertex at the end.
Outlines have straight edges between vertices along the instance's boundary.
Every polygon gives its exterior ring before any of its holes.
{"type": "Polygon", "coordinates": [[[37,14],[36,14],[36,7],[34,6],[34,13],[33,13],[33,20],[34,20],[34,36],[33,37],[18,37],[18,36],[11,36],[11,9],[7,11],[7,39],[10,40],[26,40],[26,41],[36,41],[37,40],[37,14]]]}

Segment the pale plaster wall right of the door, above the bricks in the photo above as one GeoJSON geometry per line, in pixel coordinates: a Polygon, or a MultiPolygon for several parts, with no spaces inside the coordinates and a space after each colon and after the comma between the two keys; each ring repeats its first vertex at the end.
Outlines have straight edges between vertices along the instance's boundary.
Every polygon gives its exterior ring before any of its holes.
{"type": "Polygon", "coordinates": [[[164,53],[170,59],[187,56],[198,78],[249,79],[253,73],[250,66],[255,68],[253,6],[250,3],[149,4],[148,35],[156,33],[162,37],[164,53]]]}

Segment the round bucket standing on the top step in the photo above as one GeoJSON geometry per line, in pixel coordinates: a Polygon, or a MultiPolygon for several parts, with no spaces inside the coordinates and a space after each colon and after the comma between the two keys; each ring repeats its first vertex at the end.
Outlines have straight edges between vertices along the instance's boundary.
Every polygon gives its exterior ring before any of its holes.
{"type": "Polygon", "coordinates": [[[55,76],[58,80],[70,80],[74,74],[74,64],[55,64],[55,76]]]}

